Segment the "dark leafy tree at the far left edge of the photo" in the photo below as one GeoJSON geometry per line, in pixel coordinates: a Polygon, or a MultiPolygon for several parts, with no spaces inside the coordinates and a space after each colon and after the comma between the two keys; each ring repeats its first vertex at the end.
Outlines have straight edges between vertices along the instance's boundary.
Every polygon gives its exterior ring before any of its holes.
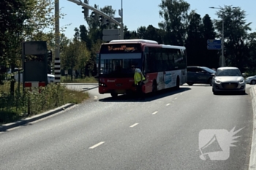
{"type": "MultiPolygon", "coordinates": [[[[0,1],[0,66],[10,68],[14,72],[15,65],[20,65],[21,35],[26,26],[24,22],[31,18],[27,7],[32,1],[3,0],[0,1]]],[[[0,82],[4,76],[0,75],[0,82]]],[[[14,95],[14,81],[10,84],[10,93],[14,95]]]]}

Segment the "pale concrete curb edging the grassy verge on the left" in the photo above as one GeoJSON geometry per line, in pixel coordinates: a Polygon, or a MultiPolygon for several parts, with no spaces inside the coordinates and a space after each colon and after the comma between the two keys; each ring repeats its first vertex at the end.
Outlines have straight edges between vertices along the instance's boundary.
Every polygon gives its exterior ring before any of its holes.
{"type": "Polygon", "coordinates": [[[33,117],[28,117],[26,119],[19,120],[19,121],[15,122],[15,123],[8,123],[8,124],[1,125],[0,126],[0,131],[7,131],[7,129],[15,128],[15,127],[20,126],[20,125],[25,125],[27,123],[34,122],[34,121],[42,119],[44,117],[48,117],[50,115],[53,115],[53,114],[55,114],[57,112],[61,112],[64,109],[67,109],[67,108],[72,107],[74,105],[75,104],[65,104],[65,105],[63,105],[61,107],[57,107],[56,109],[51,109],[51,110],[49,110],[47,112],[43,112],[43,113],[41,113],[39,115],[35,115],[33,117]]]}

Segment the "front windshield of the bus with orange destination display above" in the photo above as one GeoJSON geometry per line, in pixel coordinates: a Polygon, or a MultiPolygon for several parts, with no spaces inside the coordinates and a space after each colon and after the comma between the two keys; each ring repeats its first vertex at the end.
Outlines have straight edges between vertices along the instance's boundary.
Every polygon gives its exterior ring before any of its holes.
{"type": "Polygon", "coordinates": [[[133,77],[132,65],[141,69],[140,44],[102,45],[99,54],[100,77],[133,77]]]}

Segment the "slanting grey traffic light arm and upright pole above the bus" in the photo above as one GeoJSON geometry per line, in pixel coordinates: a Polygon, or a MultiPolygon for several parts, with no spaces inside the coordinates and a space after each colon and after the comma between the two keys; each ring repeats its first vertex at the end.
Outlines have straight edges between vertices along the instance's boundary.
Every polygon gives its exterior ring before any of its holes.
{"type": "MultiPolygon", "coordinates": [[[[92,11],[96,12],[97,14],[102,15],[104,18],[108,19],[110,22],[116,23],[116,25],[120,26],[120,30],[121,30],[121,34],[120,34],[121,37],[120,38],[124,39],[123,16],[121,16],[121,23],[119,23],[117,20],[111,18],[109,15],[105,14],[104,12],[100,11],[99,9],[91,7],[89,4],[83,3],[81,0],[67,0],[67,1],[71,1],[71,2],[73,2],[75,4],[78,4],[78,5],[81,5],[83,7],[86,7],[87,9],[91,9],[92,11]]],[[[121,9],[121,10],[123,10],[123,9],[121,9]]]]}

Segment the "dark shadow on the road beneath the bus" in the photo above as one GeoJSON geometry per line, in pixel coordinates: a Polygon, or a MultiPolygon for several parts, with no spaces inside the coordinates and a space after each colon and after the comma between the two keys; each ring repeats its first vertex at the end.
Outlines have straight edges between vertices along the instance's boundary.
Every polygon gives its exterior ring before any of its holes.
{"type": "Polygon", "coordinates": [[[154,101],[159,98],[164,98],[167,96],[172,96],[177,93],[182,93],[184,91],[190,90],[190,88],[180,88],[178,90],[176,89],[166,89],[166,90],[159,90],[156,94],[148,93],[145,96],[145,100],[137,99],[135,95],[120,95],[116,98],[108,97],[108,98],[102,98],[99,99],[99,101],[102,102],[148,102],[148,101],[154,101]]]}

